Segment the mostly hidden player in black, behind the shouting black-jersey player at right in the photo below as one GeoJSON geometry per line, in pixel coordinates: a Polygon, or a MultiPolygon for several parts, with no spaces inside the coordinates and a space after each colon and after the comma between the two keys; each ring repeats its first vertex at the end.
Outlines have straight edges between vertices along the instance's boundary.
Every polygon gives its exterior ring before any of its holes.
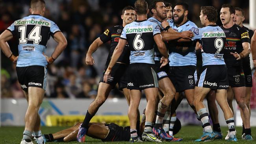
{"type": "MultiPolygon", "coordinates": [[[[249,28],[243,26],[243,21],[245,20],[245,12],[240,7],[235,7],[235,10],[236,10],[236,14],[234,16],[235,24],[237,24],[241,28],[244,28],[245,30],[247,30],[247,32],[249,33],[249,37],[251,39],[254,32],[252,30],[249,30],[249,28]]],[[[252,92],[252,70],[250,68],[249,55],[247,57],[243,58],[243,72],[245,74],[245,101],[246,101],[246,105],[247,105],[247,107],[249,109],[249,113],[250,113],[250,95],[252,92]]],[[[234,99],[234,94],[232,94],[232,95],[230,94],[228,97],[228,104],[234,113],[233,106],[232,106],[233,99],[234,99]]],[[[245,127],[244,126],[243,126],[243,131],[242,131],[242,139],[245,139],[245,127]]]]}

